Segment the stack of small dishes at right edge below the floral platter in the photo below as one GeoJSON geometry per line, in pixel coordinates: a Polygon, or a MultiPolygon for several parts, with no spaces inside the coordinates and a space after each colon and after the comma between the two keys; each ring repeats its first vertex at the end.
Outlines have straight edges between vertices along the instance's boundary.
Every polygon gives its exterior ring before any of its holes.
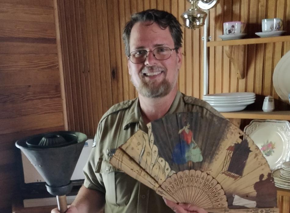
{"type": "Polygon", "coordinates": [[[272,176],[276,187],[290,189],[290,162],[284,162],[281,169],[273,171],[272,176]]]}

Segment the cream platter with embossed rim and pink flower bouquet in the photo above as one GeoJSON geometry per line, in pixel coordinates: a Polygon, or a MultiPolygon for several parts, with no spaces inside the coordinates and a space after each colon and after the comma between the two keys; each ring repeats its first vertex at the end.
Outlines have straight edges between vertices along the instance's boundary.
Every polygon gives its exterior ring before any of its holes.
{"type": "Polygon", "coordinates": [[[263,153],[270,169],[281,168],[290,159],[290,123],[286,120],[252,120],[245,127],[263,153]]]}

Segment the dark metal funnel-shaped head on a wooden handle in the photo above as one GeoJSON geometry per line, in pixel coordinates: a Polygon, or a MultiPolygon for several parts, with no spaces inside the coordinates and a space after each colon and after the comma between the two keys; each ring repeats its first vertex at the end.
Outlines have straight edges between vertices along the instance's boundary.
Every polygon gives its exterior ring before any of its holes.
{"type": "Polygon", "coordinates": [[[43,177],[47,191],[63,196],[71,191],[71,176],[86,139],[80,132],[47,132],[20,139],[15,145],[43,177]]]}

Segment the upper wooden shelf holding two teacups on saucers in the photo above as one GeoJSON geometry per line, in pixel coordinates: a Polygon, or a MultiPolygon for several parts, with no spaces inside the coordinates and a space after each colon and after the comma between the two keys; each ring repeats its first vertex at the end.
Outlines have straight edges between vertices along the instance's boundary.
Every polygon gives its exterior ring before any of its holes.
{"type": "Polygon", "coordinates": [[[209,41],[206,43],[206,46],[207,47],[233,46],[233,45],[263,44],[263,43],[284,42],[284,41],[290,41],[290,36],[275,36],[275,37],[266,37],[266,38],[248,38],[248,39],[237,39],[237,40],[209,41]]]}

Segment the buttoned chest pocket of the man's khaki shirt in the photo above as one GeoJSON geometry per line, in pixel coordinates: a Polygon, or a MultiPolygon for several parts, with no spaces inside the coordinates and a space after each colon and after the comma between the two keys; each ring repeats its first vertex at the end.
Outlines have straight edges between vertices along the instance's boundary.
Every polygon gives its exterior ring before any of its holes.
{"type": "Polygon", "coordinates": [[[131,177],[105,160],[99,168],[106,189],[107,204],[126,206],[132,194],[132,186],[128,184],[131,177]]]}

